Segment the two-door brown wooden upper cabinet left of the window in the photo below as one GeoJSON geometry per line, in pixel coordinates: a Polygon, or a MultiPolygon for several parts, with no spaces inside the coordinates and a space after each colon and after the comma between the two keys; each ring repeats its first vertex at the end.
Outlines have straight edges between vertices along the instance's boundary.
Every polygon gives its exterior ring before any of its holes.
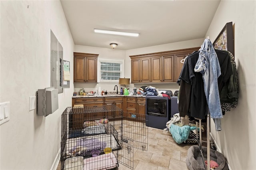
{"type": "Polygon", "coordinates": [[[74,52],[74,83],[97,83],[97,57],[74,52]]]}

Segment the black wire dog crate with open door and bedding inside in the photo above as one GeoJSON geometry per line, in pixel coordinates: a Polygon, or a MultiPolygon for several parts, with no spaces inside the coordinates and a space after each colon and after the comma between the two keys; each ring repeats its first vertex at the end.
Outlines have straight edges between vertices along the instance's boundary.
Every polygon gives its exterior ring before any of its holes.
{"type": "Polygon", "coordinates": [[[133,148],[147,150],[146,119],[115,105],[67,107],[62,113],[62,170],[133,169],[133,148]]]}

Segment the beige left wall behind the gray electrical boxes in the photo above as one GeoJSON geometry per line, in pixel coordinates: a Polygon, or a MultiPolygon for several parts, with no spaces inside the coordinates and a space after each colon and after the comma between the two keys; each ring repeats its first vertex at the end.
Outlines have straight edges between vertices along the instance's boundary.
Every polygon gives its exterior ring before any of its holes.
{"type": "Polygon", "coordinates": [[[0,169],[49,170],[60,150],[61,114],[71,106],[73,81],[47,117],[29,111],[29,97],[50,86],[50,30],[70,61],[71,80],[74,42],[60,1],[0,1],[0,15],[0,102],[10,101],[10,121],[0,126],[0,169]]]}

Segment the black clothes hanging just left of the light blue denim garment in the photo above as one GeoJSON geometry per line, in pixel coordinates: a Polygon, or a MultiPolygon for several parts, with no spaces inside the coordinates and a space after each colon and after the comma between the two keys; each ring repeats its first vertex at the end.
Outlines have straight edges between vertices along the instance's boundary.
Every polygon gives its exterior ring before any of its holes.
{"type": "Polygon", "coordinates": [[[207,102],[202,74],[194,72],[199,52],[195,51],[186,57],[177,81],[180,85],[178,104],[180,117],[188,115],[197,119],[205,119],[207,115],[207,102]]]}

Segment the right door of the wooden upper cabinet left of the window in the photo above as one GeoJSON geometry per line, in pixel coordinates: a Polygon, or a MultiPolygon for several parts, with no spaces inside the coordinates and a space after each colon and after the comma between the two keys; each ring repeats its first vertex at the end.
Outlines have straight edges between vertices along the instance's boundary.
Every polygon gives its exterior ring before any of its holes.
{"type": "Polygon", "coordinates": [[[97,58],[86,57],[86,82],[97,83],[97,58]]]}

